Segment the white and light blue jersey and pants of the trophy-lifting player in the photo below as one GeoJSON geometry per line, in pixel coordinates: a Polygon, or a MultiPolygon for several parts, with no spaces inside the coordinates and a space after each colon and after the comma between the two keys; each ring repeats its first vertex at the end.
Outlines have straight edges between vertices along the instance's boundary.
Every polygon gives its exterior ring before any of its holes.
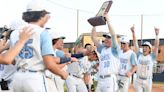
{"type": "Polygon", "coordinates": [[[100,53],[99,79],[95,92],[116,92],[116,74],[119,70],[119,46],[112,37],[112,47],[100,45],[97,49],[100,53]]]}

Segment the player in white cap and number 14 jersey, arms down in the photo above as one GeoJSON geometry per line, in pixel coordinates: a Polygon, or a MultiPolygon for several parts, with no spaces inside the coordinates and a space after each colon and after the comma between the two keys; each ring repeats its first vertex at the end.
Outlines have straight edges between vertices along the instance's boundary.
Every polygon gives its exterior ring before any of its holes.
{"type": "Polygon", "coordinates": [[[136,54],[130,50],[127,36],[121,37],[120,68],[118,73],[118,92],[129,92],[132,74],[136,71],[136,54]]]}

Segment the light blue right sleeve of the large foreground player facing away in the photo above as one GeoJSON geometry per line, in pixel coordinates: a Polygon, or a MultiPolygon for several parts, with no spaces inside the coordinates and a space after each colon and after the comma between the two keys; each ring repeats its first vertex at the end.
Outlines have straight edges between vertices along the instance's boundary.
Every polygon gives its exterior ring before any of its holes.
{"type": "Polygon", "coordinates": [[[45,55],[54,55],[53,47],[52,47],[52,40],[48,33],[48,31],[43,31],[41,33],[41,54],[42,56],[45,55]]]}

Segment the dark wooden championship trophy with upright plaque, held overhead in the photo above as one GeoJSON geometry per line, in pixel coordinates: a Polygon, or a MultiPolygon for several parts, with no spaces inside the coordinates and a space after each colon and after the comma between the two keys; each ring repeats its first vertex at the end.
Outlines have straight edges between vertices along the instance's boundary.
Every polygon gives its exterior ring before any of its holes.
{"type": "Polygon", "coordinates": [[[99,12],[97,13],[97,15],[95,17],[89,18],[88,22],[92,26],[105,25],[106,24],[106,20],[105,20],[105,17],[104,17],[104,13],[109,11],[112,3],[113,3],[113,1],[106,1],[106,2],[104,2],[102,4],[99,12]]]}

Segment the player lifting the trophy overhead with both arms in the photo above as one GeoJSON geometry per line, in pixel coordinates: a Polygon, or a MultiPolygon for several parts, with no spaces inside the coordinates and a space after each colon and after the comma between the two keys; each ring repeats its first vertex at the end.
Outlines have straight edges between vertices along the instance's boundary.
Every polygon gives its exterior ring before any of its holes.
{"type": "Polygon", "coordinates": [[[100,53],[100,62],[99,62],[99,78],[98,84],[96,88],[96,92],[116,92],[117,89],[117,79],[116,74],[118,74],[119,68],[119,45],[117,43],[116,34],[109,23],[109,18],[107,14],[104,15],[108,28],[109,33],[111,34],[104,34],[105,37],[104,43],[100,44],[96,38],[96,29],[95,27],[92,28],[92,40],[95,46],[100,53]]]}

